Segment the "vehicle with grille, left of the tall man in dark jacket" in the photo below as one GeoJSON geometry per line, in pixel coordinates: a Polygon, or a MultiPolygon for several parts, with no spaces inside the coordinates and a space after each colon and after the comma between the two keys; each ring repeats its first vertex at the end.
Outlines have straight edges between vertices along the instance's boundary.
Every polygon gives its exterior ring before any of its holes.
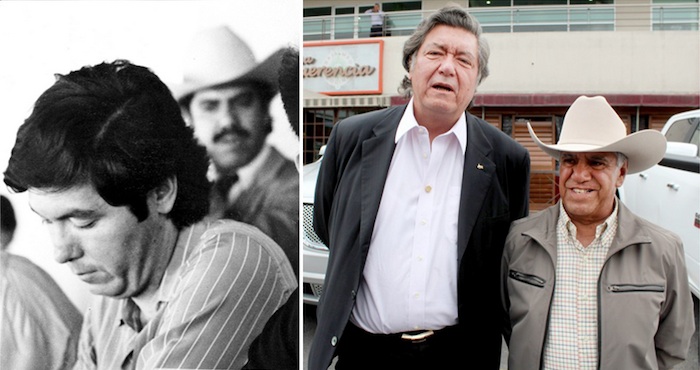
{"type": "Polygon", "coordinates": [[[326,275],[328,263],[328,248],[314,232],[314,192],[316,190],[316,178],[321,168],[325,146],[321,147],[321,158],[304,165],[303,183],[303,214],[304,232],[302,258],[304,271],[302,273],[304,303],[317,304],[323,292],[323,281],[326,275]]]}

